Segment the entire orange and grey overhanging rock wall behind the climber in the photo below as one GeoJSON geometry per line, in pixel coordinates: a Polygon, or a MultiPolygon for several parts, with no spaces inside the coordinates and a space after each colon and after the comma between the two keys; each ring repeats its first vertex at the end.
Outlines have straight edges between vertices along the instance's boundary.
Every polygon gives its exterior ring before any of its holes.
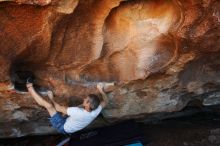
{"type": "Polygon", "coordinates": [[[220,100],[217,0],[1,2],[0,20],[2,137],[54,132],[46,111],[12,89],[18,71],[32,72],[64,105],[97,93],[99,81],[115,82],[107,120],[220,100]]]}

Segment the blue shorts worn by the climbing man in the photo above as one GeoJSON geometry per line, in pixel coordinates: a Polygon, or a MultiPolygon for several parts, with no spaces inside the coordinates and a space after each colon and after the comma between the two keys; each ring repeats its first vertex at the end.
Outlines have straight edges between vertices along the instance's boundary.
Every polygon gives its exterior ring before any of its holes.
{"type": "Polygon", "coordinates": [[[66,118],[63,117],[59,112],[53,115],[50,118],[50,123],[52,124],[53,128],[55,128],[59,133],[67,134],[64,130],[64,123],[66,122],[66,118]]]}

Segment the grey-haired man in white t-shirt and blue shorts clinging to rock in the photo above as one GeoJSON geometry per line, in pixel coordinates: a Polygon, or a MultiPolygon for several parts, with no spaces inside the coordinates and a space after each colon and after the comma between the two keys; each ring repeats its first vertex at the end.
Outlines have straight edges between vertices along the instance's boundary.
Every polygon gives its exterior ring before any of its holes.
{"type": "Polygon", "coordinates": [[[103,100],[100,101],[98,96],[94,94],[88,95],[83,100],[83,104],[78,107],[61,106],[54,101],[54,96],[51,91],[48,91],[48,97],[53,104],[44,100],[33,88],[33,83],[27,83],[27,88],[35,101],[47,109],[50,115],[52,126],[63,134],[74,133],[88,126],[106,106],[108,100],[103,91],[103,84],[99,83],[97,89],[102,95],[103,100]],[[68,115],[67,118],[61,115],[68,115]]]}

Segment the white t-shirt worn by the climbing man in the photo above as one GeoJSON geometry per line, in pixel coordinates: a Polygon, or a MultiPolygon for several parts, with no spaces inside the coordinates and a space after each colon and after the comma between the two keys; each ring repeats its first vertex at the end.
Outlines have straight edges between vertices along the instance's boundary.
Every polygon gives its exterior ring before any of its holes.
{"type": "Polygon", "coordinates": [[[85,128],[99,115],[101,110],[101,105],[91,112],[86,111],[84,108],[68,107],[67,115],[69,115],[69,117],[64,124],[65,132],[73,133],[85,128]]]}

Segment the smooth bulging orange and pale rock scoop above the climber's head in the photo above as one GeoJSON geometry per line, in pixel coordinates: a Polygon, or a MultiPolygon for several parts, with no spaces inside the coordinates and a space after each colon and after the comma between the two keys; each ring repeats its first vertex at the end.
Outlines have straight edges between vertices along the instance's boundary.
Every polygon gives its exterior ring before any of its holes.
{"type": "Polygon", "coordinates": [[[100,58],[84,67],[81,77],[129,82],[158,72],[177,55],[177,42],[169,31],[179,17],[171,1],[121,3],[105,20],[102,50],[96,55],[100,58]]]}

